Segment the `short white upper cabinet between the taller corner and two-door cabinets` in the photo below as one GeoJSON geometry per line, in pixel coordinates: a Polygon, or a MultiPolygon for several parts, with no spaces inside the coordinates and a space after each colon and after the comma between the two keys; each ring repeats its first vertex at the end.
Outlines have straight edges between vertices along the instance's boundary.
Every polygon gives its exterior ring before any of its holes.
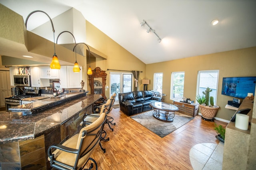
{"type": "Polygon", "coordinates": [[[59,79],[60,70],[51,69],[49,66],[40,66],[40,78],[41,79],[59,79]]]}

